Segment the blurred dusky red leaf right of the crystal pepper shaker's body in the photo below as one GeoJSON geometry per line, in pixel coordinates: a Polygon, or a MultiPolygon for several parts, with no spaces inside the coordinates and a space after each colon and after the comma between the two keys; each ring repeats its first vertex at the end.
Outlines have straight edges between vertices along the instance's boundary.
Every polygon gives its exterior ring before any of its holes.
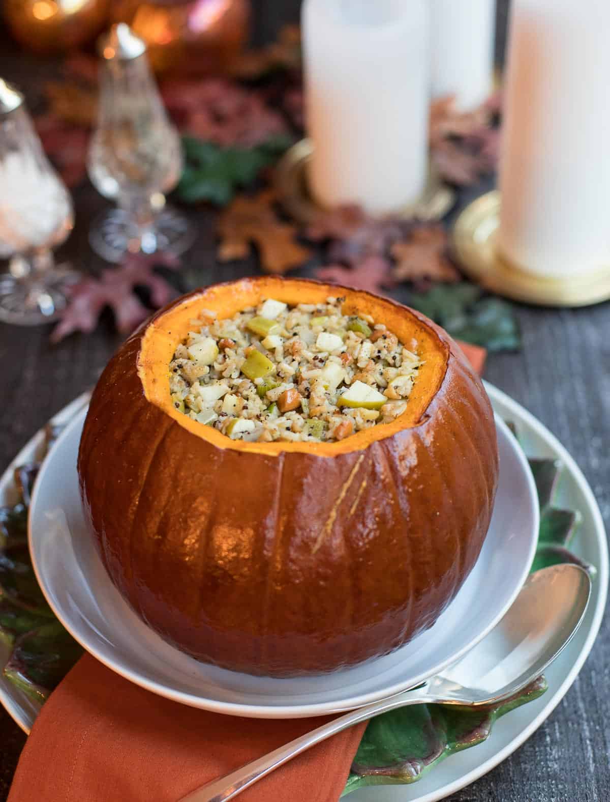
{"type": "Polygon", "coordinates": [[[226,79],[175,79],[161,95],[180,130],[206,142],[252,148],[288,133],[285,119],[255,89],[226,79]]]}

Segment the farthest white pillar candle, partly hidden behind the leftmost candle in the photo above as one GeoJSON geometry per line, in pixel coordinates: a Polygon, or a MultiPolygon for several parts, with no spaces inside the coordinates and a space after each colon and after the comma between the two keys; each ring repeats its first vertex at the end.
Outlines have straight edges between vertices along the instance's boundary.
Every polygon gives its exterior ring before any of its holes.
{"type": "Polygon", "coordinates": [[[430,0],[432,96],[470,111],[493,88],[495,0],[430,0]]]}

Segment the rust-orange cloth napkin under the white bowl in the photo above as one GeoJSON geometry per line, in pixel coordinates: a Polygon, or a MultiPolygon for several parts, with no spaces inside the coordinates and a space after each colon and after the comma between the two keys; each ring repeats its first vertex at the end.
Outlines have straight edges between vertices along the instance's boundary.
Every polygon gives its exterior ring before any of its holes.
{"type": "MultiPolygon", "coordinates": [[[[479,373],[486,351],[460,342],[479,373]]],[[[86,654],[34,723],[8,802],[176,802],[329,718],[240,719],[144,691],[86,654]]],[[[335,802],[366,723],[244,791],[244,802],[335,802]]]]}

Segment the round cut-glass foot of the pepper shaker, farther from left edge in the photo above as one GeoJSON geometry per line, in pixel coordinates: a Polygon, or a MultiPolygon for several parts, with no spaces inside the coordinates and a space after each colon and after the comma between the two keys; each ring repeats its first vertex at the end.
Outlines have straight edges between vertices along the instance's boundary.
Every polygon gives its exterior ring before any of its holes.
{"type": "MultiPolygon", "coordinates": [[[[133,224],[123,209],[111,209],[95,218],[89,243],[106,261],[121,261],[133,241],[133,224]]],[[[184,253],[195,241],[191,225],[175,209],[166,206],[156,218],[155,229],[143,237],[144,253],[184,253]]]]}

